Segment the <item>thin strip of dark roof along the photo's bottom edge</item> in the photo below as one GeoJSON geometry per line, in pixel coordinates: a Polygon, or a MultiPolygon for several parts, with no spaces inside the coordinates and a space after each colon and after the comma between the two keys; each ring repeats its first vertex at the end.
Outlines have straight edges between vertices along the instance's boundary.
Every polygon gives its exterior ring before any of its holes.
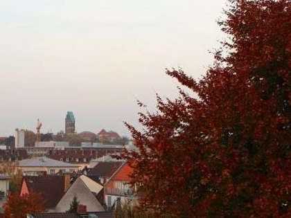
{"type": "MultiPolygon", "coordinates": [[[[89,212],[87,215],[97,215],[98,218],[114,218],[114,212],[89,212]]],[[[80,216],[68,212],[39,213],[33,215],[33,218],[79,218],[80,216]]],[[[91,216],[95,218],[94,216],[91,216]]]]}

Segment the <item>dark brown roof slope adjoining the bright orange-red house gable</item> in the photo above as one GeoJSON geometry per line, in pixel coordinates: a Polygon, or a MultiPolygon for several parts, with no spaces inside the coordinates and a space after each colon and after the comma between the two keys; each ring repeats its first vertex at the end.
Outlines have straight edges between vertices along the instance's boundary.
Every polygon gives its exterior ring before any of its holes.
{"type": "Polygon", "coordinates": [[[94,168],[92,168],[89,172],[89,176],[100,176],[100,177],[106,177],[110,178],[116,170],[118,170],[119,167],[123,162],[99,162],[94,168]]]}

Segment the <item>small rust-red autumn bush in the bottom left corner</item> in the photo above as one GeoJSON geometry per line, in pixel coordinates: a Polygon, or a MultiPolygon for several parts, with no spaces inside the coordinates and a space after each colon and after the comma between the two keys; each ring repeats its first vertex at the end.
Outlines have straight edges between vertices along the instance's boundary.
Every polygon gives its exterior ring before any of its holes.
{"type": "Polygon", "coordinates": [[[18,193],[9,194],[8,201],[3,206],[5,218],[26,218],[33,212],[44,211],[44,199],[39,194],[30,193],[19,196],[18,193]]]}

